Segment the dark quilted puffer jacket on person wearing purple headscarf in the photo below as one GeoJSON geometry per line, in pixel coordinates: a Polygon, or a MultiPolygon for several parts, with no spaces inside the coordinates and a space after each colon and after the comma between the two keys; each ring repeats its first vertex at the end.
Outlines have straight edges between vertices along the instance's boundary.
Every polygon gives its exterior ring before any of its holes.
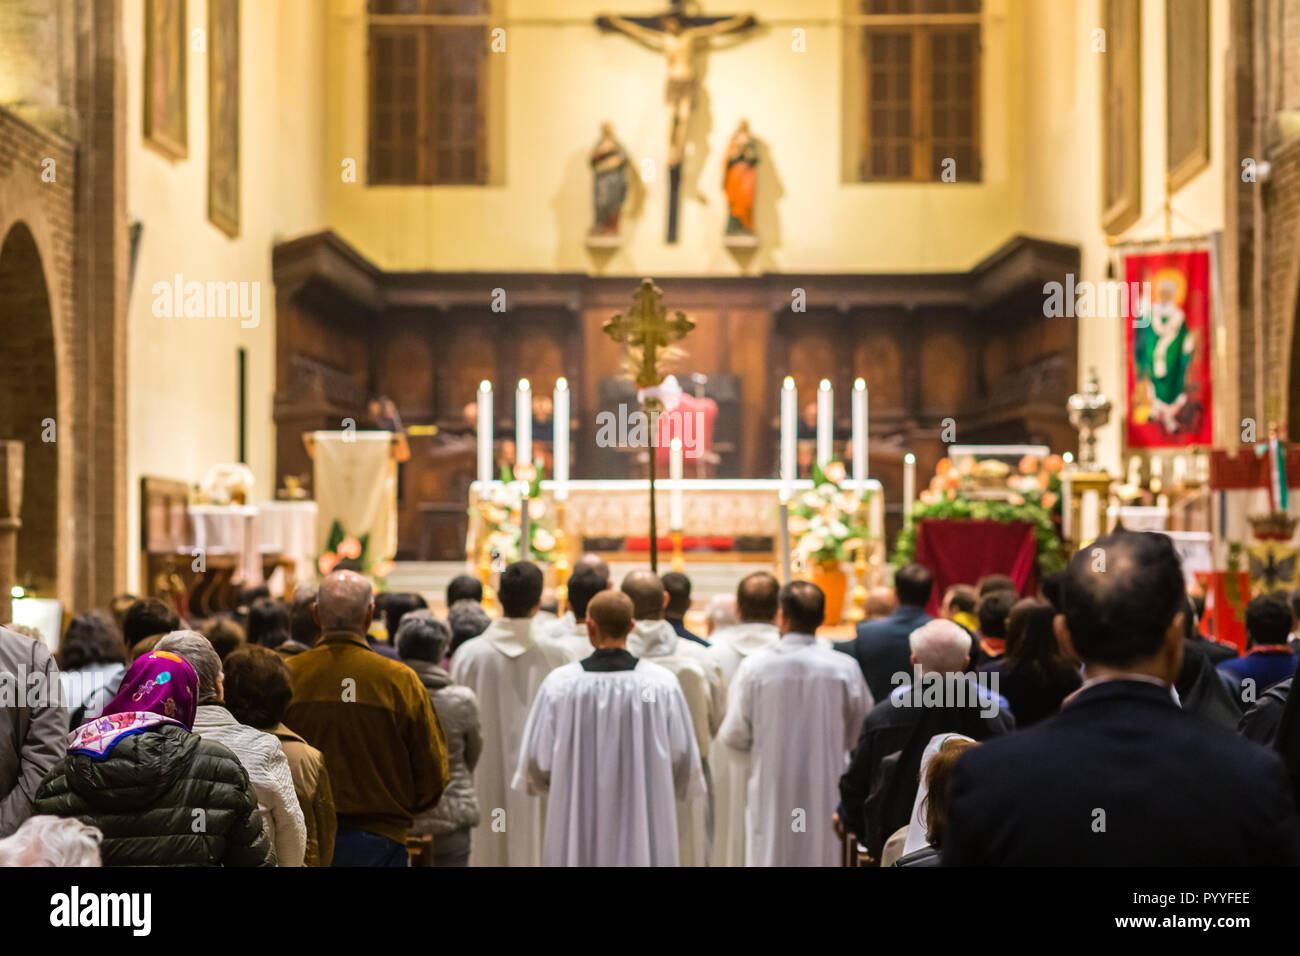
{"type": "Polygon", "coordinates": [[[105,866],[276,865],[239,760],[174,724],[124,737],[103,760],[66,754],[32,812],[99,827],[105,866]]]}

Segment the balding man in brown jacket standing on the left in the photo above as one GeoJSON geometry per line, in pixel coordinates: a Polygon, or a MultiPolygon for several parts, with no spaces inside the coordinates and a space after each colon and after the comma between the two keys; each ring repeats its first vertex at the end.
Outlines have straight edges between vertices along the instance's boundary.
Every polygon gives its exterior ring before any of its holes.
{"type": "Polygon", "coordinates": [[[338,834],[334,866],[406,866],[415,814],[447,786],[447,744],[415,671],[370,650],[370,583],[335,571],[316,597],[321,639],[286,661],[285,723],[325,754],[338,834]]]}

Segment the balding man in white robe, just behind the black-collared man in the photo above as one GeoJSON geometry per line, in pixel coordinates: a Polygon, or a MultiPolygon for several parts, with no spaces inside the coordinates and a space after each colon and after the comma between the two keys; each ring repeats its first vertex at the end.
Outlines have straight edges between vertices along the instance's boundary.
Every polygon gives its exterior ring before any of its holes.
{"type": "Polygon", "coordinates": [[[706,646],[679,637],[672,623],[664,619],[663,610],[668,604],[668,592],[664,591],[658,575],[650,571],[632,571],[623,579],[621,589],[632,598],[636,614],[632,633],[628,636],[628,650],[634,657],[654,661],[672,671],[690,709],[696,743],[701,758],[706,761],[706,792],[679,808],[681,865],[707,866],[712,834],[712,797],[707,792],[712,787],[707,777],[708,747],[722,726],[727,709],[722,667],[708,657],[706,646]]]}

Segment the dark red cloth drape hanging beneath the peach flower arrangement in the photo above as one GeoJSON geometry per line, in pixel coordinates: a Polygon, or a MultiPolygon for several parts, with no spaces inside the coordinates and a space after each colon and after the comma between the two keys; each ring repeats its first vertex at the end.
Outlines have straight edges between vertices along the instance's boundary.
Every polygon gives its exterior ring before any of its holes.
{"type": "Polygon", "coordinates": [[[944,592],[953,584],[975,584],[984,575],[1010,575],[1019,594],[1039,588],[1037,540],[1028,522],[927,519],[916,523],[913,561],[935,576],[926,610],[939,614],[944,592]]]}

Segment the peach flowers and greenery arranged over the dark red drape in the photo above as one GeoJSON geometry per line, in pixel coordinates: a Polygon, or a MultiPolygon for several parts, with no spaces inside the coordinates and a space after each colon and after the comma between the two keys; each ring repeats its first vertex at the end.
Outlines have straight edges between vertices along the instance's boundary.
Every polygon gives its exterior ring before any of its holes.
{"type": "Polygon", "coordinates": [[[939,459],[930,488],[919,496],[911,522],[898,533],[892,563],[901,567],[916,551],[916,523],[927,519],[1024,522],[1034,527],[1039,571],[1065,570],[1065,551],[1057,533],[1061,515],[1061,455],[1026,455],[1013,471],[1005,462],[965,458],[954,464],[939,459]]]}

